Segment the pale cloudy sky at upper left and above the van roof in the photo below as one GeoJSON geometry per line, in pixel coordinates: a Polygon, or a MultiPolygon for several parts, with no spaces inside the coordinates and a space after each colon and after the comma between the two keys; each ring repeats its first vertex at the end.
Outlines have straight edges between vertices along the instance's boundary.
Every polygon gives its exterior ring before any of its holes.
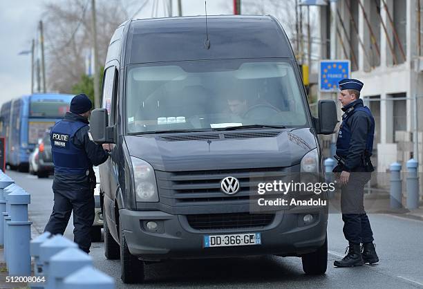
{"type": "MultiPolygon", "coordinates": [[[[0,105],[21,95],[30,94],[31,55],[18,55],[30,50],[32,38],[37,37],[37,26],[44,4],[60,0],[0,0],[0,105]]],[[[124,0],[122,0],[124,1],[124,0]]],[[[164,13],[164,0],[158,0],[158,17],[164,13]]],[[[139,1],[140,5],[143,3],[139,1]]],[[[153,0],[135,18],[149,18],[153,0]]],[[[232,13],[232,0],[207,0],[207,14],[220,15],[232,13]]],[[[134,6],[134,13],[138,10],[134,6]]],[[[204,1],[182,0],[183,15],[204,15],[204,1]]],[[[177,1],[173,0],[173,15],[177,12],[177,1]]]]}

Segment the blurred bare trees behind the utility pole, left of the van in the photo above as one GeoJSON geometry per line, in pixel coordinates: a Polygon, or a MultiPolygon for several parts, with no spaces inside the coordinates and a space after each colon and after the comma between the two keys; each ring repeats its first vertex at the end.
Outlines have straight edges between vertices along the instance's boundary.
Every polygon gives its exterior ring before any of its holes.
{"type": "MultiPolygon", "coordinates": [[[[128,18],[134,1],[97,0],[99,62],[104,64],[113,32],[128,18]]],[[[92,47],[91,1],[63,0],[46,3],[45,47],[48,89],[69,93],[85,72],[85,55],[92,47]]]]}

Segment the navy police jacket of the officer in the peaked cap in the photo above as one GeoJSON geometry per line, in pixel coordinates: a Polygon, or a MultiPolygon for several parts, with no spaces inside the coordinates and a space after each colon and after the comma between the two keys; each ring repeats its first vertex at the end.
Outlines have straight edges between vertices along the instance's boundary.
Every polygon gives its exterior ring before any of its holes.
{"type": "Polygon", "coordinates": [[[375,120],[363,100],[355,100],[344,106],[341,127],[337,139],[337,156],[344,159],[343,171],[364,171],[371,168],[370,156],[375,135],[375,120]]]}

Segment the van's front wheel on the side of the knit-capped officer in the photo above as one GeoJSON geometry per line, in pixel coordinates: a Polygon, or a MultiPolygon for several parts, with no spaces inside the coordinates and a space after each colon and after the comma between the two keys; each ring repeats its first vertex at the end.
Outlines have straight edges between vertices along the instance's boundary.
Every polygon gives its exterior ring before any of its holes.
{"type": "Polygon", "coordinates": [[[119,223],[120,231],[120,278],[123,283],[142,283],[144,281],[144,262],[138,260],[129,252],[126,244],[122,224],[119,223]]]}

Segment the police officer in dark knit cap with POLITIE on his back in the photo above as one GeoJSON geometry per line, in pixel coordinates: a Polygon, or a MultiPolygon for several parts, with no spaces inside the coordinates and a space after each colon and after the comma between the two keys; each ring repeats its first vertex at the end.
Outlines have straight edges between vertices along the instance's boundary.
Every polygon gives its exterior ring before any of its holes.
{"type": "Polygon", "coordinates": [[[86,95],[76,95],[71,101],[71,112],[50,131],[55,203],[44,229],[44,232],[64,234],[73,210],[74,241],[87,253],[95,215],[93,165],[100,165],[109,157],[102,145],[89,139],[88,118],[92,106],[86,95]]]}

